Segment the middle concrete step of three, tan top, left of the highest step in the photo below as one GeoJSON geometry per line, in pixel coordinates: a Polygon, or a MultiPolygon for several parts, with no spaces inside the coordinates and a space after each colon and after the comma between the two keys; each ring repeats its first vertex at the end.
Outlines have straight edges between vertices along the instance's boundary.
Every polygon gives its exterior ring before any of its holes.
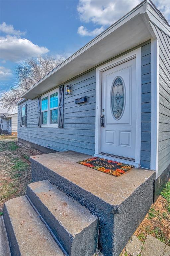
{"type": "Polygon", "coordinates": [[[11,256],[63,256],[25,196],[5,203],[3,219],[11,256]]]}

